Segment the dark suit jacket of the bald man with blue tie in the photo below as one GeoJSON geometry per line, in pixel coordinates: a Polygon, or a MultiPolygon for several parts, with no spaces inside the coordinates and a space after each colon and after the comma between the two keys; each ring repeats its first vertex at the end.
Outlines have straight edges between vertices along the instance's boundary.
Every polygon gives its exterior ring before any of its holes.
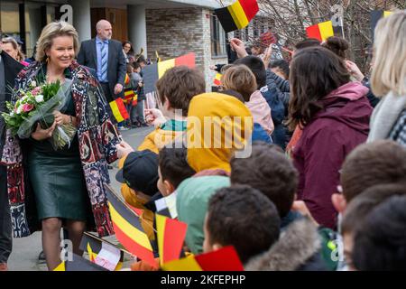
{"type": "MultiPolygon", "coordinates": [[[[97,49],[96,39],[87,40],[80,44],[78,52],[78,63],[91,69],[97,70],[97,49]]],[[[110,93],[115,96],[115,84],[125,86],[126,63],[121,42],[110,40],[108,42],[107,79],[110,93]]],[[[118,95],[124,98],[124,89],[118,95]]]]}

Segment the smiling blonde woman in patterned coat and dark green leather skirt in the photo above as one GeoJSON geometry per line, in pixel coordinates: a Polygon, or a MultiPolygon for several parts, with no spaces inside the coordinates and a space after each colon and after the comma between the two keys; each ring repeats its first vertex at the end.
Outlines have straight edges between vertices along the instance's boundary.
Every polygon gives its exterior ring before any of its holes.
{"type": "MultiPolygon", "coordinates": [[[[7,166],[14,237],[29,236],[40,221],[50,270],[60,264],[62,226],[68,229],[73,253],[78,255],[86,227],[96,225],[100,237],[114,234],[103,184],[110,182],[107,163],[117,158],[115,144],[120,136],[97,79],[74,61],[77,52],[78,33],[73,26],[54,22],[44,27],[36,61],[19,73],[16,89],[27,90],[39,79],[62,83],[71,79],[69,105],[54,112],[50,128],[37,126],[28,139],[8,131],[2,159],[7,166]],[[69,123],[78,133],[69,146],[53,149],[48,138],[56,126],[69,123]]],[[[12,101],[17,98],[18,94],[12,101]]]]}

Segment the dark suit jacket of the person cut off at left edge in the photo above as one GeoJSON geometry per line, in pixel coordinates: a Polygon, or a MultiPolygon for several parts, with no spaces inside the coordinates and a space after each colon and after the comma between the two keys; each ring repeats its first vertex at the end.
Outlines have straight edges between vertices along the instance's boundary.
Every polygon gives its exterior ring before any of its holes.
{"type": "MultiPolygon", "coordinates": [[[[5,51],[0,52],[0,57],[2,58],[2,65],[4,67],[5,73],[0,74],[0,78],[4,78],[5,91],[0,91],[0,113],[5,111],[5,101],[11,101],[12,90],[14,88],[14,79],[17,77],[18,72],[23,70],[23,64],[15,61],[10,55],[5,51]]],[[[0,117],[0,160],[3,154],[3,146],[5,144],[5,120],[0,117]]]]}

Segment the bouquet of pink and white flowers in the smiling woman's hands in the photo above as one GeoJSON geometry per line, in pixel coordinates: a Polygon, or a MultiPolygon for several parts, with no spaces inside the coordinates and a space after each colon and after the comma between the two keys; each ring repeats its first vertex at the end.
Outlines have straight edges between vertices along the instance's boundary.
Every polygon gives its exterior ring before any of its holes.
{"type": "MultiPolygon", "coordinates": [[[[63,84],[58,80],[37,86],[36,81],[32,81],[29,89],[14,91],[18,100],[15,105],[6,102],[8,112],[2,113],[7,129],[10,129],[13,135],[28,138],[38,123],[43,129],[50,128],[54,122],[53,112],[69,104],[71,83],[70,79],[66,79],[63,84]]],[[[77,128],[72,124],[57,126],[49,141],[53,148],[58,150],[66,144],[70,146],[76,132],[77,128]]]]}

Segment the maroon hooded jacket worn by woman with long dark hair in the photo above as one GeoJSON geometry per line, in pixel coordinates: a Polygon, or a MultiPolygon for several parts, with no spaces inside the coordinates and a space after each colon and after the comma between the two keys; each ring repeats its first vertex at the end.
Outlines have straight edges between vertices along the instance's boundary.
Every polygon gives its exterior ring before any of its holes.
{"type": "Polygon", "coordinates": [[[337,192],[339,170],[346,155],[365,142],[372,107],[361,83],[349,82],[321,99],[324,107],[307,126],[293,150],[300,172],[298,199],[324,227],[335,228],[337,211],[331,195],[337,192]]]}

